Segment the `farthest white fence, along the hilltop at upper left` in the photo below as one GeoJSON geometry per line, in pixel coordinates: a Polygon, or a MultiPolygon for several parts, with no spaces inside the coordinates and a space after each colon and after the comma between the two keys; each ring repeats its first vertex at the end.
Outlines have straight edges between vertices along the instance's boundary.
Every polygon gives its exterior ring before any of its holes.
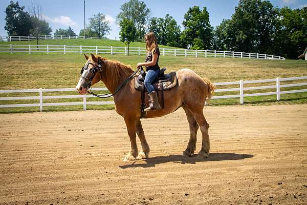
{"type": "MultiPolygon", "coordinates": [[[[76,35],[40,35],[38,36],[39,40],[47,39],[105,39],[98,37],[88,37],[88,36],[76,36],[76,35]]],[[[21,42],[25,40],[36,40],[36,36],[33,35],[24,35],[24,36],[0,36],[1,42],[21,42]]]]}

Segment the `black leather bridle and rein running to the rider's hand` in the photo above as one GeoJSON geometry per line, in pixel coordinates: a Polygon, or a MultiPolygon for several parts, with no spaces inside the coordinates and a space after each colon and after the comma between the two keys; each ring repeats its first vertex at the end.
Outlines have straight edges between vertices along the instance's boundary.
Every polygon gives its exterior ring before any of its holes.
{"type": "MultiPolygon", "coordinates": [[[[124,83],[119,86],[116,91],[112,94],[112,93],[107,93],[107,94],[96,94],[94,92],[91,91],[91,85],[92,85],[92,80],[94,78],[94,76],[96,75],[96,73],[99,71],[102,71],[102,67],[101,67],[101,59],[98,59],[98,66],[96,66],[96,64],[93,64],[92,62],[87,62],[83,68],[81,69],[81,76],[82,78],[86,79],[87,81],[89,81],[89,85],[86,87],[86,90],[88,93],[96,96],[96,97],[100,97],[100,98],[107,98],[107,97],[112,97],[114,96],[118,91],[120,91],[136,74],[137,72],[141,69],[142,67],[139,67],[133,74],[131,74],[125,81],[124,83]],[[87,78],[85,76],[83,76],[83,71],[87,69],[87,67],[89,67],[89,64],[91,64],[93,66],[93,68],[90,70],[90,72],[93,74],[92,77],[87,78]]],[[[143,68],[142,68],[143,69],[143,68]]]]}

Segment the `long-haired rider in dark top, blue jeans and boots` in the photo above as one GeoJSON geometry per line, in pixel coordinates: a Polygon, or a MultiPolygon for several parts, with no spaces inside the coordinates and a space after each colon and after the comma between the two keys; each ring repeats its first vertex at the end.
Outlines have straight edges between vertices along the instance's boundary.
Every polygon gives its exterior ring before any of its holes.
{"type": "Polygon", "coordinates": [[[146,50],[147,56],[145,59],[145,63],[138,63],[137,67],[145,66],[147,74],[145,76],[144,85],[149,93],[150,100],[152,102],[152,108],[150,106],[144,111],[155,111],[161,109],[159,100],[158,100],[158,93],[155,91],[155,88],[152,86],[153,80],[156,79],[160,72],[160,67],[158,65],[160,50],[157,44],[157,38],[155,33],[149,32],[145,35],[145,42],[146,42],[146,50]]]}

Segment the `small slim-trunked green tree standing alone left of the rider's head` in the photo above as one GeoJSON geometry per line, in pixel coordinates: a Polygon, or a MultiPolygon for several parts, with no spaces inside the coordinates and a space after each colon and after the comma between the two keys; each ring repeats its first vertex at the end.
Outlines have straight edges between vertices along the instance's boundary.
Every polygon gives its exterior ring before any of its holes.
{"type": "Polygon", "coordinates": [[[119,25],[119,38],[122,42],[125,42],[127,44],[129,55],[129,44],[137,39],[137,28],[134,26],[133,21],[127,18],[124,18],[119,25]]]}

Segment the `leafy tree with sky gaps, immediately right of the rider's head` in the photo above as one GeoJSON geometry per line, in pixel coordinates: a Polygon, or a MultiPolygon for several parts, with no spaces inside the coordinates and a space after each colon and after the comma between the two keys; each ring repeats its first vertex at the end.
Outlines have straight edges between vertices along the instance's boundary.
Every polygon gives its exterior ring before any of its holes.
{"type": "Polygon", "coordinates": [[[164,18],[153,17],[150,20],[149,31],[156,34],[158,44],[167,46],[180,46],[180,26],[169,14],[164,18]]]}

